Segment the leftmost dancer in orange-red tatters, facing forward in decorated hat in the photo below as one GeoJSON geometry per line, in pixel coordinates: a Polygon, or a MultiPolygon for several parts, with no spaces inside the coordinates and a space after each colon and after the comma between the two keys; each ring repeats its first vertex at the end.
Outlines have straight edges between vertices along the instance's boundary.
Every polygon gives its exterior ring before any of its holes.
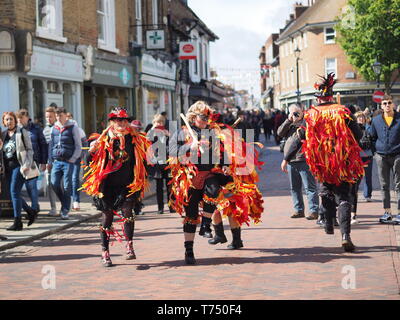
{"type": "Polygon", "coordinates": [[[147,172],[144,161],[150,142],[145,135],[129,125],[125,108],[116,107],[108,115],[109,126],[101,135],[92,134],[82,189],[93,197],[102,212],[100,237],[102,263],[112,265],[109,253],[110,236],[126,240],[126,259],[136,259],[133,249],[135,215],[132,209],[144,196],[147,172]],[[122,212],[119,214],[118,211],[122,212]],[[112,227],[114,215],[121,224],[123,235],[112,227]]]}

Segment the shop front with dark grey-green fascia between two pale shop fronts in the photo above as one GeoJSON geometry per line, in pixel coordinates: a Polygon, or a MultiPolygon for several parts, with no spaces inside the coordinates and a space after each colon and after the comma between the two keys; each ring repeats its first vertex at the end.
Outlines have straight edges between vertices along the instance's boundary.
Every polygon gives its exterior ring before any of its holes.
{"type": "Polygon", "coordinates": [[[92,77],[85,82],[85,130],[101,132],[107,127],[107,114],[114,106],[126,107],[132,114],[133,67],[94,59],[92,77]]]}

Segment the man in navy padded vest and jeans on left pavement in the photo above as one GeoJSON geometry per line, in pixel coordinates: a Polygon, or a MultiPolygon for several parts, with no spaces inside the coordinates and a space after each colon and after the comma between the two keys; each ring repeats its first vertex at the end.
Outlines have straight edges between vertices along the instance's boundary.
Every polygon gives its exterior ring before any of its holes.
{"type": "Polygon", "coordinates": [[[61,218],[66,220],[71,209],[72,172],[74,163],[81,155],[82,142],[79,128],[67,119],[64,108],[56,110],[56,118],[57,122],[51,131],[48,163],[51,167],[51,185],[61,201],[61,218]]]}

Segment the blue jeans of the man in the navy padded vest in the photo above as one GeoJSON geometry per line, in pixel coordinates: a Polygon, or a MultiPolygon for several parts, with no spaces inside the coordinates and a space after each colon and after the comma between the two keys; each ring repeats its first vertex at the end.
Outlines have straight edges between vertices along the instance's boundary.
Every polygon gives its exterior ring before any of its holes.
{"type": "Polygon", "coordinates": [[[51,169],[51,186],[61,201],[62,212],[69,212],[71,209],[73,169],[73,163],[59,160],[53,162],[51,169]],[[61,187],[61,179],[63,179],[63,187],[61,187]]]}

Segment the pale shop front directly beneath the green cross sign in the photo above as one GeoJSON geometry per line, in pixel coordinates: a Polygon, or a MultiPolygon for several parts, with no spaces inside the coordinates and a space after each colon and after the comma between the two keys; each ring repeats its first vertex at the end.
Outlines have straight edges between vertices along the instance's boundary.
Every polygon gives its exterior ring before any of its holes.
{"type": "Polygon", "coordinates": [[[154,115],[164,111],[169,119],[175,120],[178,114],[175,63],[163,62],[144,54],[140,83],[136,114],[144,125],[150,124],[154,115]]]}

